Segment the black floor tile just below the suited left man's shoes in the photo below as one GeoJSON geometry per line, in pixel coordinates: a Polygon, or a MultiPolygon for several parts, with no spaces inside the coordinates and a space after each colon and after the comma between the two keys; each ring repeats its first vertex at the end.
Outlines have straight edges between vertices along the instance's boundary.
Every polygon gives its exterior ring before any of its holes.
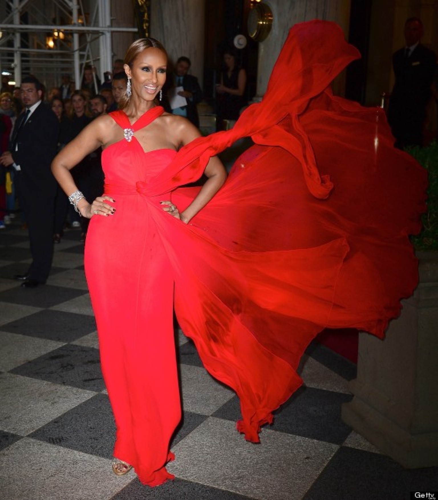
{"type": "MultiPolygon", "coordinates": [[[[65,270],[65,269],[64,269],[65,270]]],[[[26,272],[27,269],[24,270],[26,272]]],[[[18,283],[18,281],[17,281],[18,283]]],[[[11,288],[0,292],[0,302],[13,302],[35,307],[53,307],[72,298],[85,295],[87,291],[45,284],[37,288],[11,288]]]]}

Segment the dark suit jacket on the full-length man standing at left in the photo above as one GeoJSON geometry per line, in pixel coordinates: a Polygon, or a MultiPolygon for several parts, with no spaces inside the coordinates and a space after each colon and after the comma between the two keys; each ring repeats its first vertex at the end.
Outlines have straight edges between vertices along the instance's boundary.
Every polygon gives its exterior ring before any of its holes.
{"type": "MultiPolygon", "coordinates": [[[[24,119],[22,113],[15,122],[12,141],[24,119]]],[[[21,183],[27,191],[43,196],[55,196],[57,182],[50,169],[57,152],[59,121],[52,109],[41,102],[20,130],[18,150],[11,147],[12,157],[21,168],[21,183]]]]}

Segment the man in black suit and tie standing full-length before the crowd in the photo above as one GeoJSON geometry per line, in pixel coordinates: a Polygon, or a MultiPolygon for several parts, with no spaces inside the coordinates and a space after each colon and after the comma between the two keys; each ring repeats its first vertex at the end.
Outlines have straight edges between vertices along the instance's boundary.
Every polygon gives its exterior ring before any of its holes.
{"type": "Polygon", "coordinates": [[[16,275],[25,288],[46,282],[53,257],[54,207],[57,183],[50,165],[56,155],[59,121],[42,102],[43,86],[34,76],[23,79],[21,95],[26,109],[17,118],[12,147],[0,157],[17,170],[19,201],[29,224],[32,263],[16,275]]]}

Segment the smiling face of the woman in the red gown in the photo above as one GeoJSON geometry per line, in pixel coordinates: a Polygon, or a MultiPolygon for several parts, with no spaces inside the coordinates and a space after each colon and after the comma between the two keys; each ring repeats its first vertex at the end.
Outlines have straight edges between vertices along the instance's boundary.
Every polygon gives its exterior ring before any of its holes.
{"type": "Polygon", "coordinates": [[[166,81],[166,54],[159,48],[142,50],[132,63],[125,64],[125,71],[131,77],[132,95],[153,101],[166,81]]]}

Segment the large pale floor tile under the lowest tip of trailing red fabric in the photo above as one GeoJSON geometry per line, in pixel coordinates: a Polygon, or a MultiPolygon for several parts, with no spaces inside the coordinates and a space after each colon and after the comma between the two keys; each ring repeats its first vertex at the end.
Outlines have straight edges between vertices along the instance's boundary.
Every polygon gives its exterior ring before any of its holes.
{"type": "Polygon", "coordinates": [[[261,500],[300,500],[338,446],[263,430],[261,444],[244,440],[235,423],[207,418],[173,449],[178,477],[261,500]]]}

